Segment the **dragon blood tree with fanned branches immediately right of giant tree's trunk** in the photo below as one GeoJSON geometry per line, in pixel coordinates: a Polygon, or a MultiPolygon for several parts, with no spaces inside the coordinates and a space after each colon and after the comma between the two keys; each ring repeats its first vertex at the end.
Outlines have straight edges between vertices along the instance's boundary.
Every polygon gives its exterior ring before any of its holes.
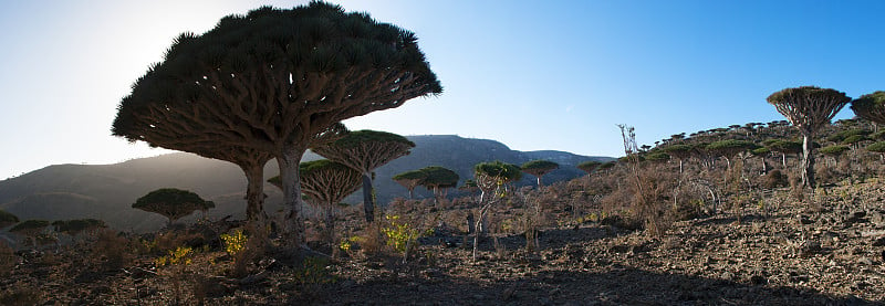
{"type": "MultiPolygon", "coordinates": [[[[325,230],[327,242],[332,242],[335,228],[335,207],[360,189],[362,173],[342,163],[327,159],[301,162],[299,166],[301,191],[308,203],[325,211],[325,230]]],[[[277,187],[280,177],[269,180],[277,187]]]]}

